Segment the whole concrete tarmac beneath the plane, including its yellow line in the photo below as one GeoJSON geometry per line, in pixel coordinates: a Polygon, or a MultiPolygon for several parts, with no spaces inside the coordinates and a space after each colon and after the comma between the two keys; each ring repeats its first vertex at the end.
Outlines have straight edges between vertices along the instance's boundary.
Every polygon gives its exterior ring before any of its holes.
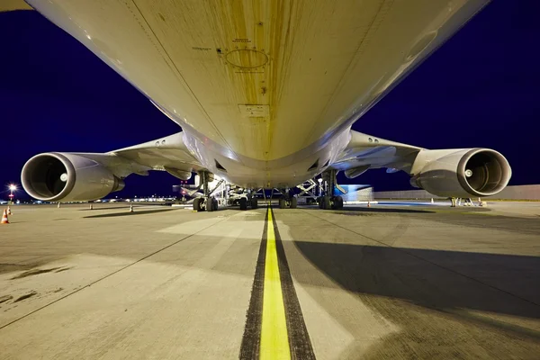
{"type": "Polygon", "coordinates": [[[0,359],[538,359],[540,203],[12,206],[0,359]]]}

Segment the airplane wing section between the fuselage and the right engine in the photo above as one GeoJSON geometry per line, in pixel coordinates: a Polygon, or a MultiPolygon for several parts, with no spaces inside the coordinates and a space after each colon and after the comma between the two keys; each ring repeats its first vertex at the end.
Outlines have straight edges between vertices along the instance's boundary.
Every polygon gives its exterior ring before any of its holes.
{"type": "Polygon", "coordinates": [[[339,154],[332,168],[344,170],[356,177],[370,168],[386,167],[389,172],[409,172],[416,155],[422,148],[381,139],[351,130],[347,148],[339,154]]]}

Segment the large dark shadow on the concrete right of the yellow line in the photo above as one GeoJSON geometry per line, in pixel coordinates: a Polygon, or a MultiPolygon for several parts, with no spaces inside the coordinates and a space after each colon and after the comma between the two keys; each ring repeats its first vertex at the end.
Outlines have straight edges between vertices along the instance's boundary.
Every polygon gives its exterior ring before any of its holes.
{"type": "MultiPolygon", "coordinates": [[[[469,309],[540,319],[540,257],[293,243],[349,292],[397,298],[437,311],[469,309]]],[[[313,282],[299,276],[302,283],[313,282]]]]}

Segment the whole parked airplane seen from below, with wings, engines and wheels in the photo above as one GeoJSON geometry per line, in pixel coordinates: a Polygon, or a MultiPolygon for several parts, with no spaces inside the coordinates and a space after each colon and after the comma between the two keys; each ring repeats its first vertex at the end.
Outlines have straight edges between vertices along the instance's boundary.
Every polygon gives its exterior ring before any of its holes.
{"type": "MultiPolygon", "coordinates": [[[[217,210],[218,176],[244,189],[288,190],[316,175],[405,171],[437,196],[484,197],[509,183],[490,148],[428,149],[351,126],[489,0],[8,0],[67,31],[148,97],[181,131],[107,153],[48,152],[23,166],[24,190],[89,201],[131,174],[201,177],[198,211],[217,210]]],[[[151,126],[151,125],[148,125],[151,126]]],[[[405,125],[403,125],[405,127],[405,125]]],[[[331,190],[322,209],[343,207],[331,190]]],[[[240,208],[257,207],[246,199],[240,208]]]]}

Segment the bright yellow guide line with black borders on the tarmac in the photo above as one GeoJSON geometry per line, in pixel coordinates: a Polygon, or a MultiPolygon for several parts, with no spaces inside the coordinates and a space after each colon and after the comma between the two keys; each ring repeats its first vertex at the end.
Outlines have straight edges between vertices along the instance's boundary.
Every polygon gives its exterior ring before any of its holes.
{"type": "Polygon", "coordinates": [[[266,209],[240,359],[315,359],[274,212],[266,209]]]}

